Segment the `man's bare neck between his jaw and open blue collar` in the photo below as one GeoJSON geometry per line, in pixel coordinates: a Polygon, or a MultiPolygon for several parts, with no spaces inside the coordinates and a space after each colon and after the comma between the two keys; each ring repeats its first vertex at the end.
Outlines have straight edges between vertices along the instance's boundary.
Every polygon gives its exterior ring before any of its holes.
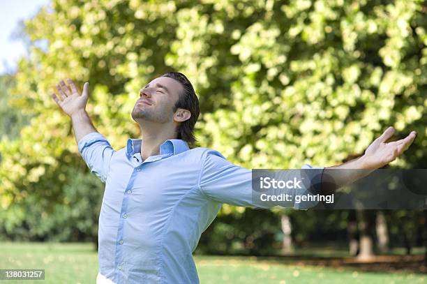
{"type": "Polygon", "coordinates": [[[160,145],[168,139],[176,139],[176,133],[172,129],[162,129],[160,126],[148,128],[144,126],[142,130],[141,157],[146,160],[149,156],[160,154],[160,145]]]}

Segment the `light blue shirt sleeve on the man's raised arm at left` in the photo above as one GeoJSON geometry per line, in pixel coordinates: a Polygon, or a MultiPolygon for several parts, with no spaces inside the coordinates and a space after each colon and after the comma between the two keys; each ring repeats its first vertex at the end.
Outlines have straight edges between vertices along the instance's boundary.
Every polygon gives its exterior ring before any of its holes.
{"type": "Polygon", "coordinates": [[[110,169],[110,161],[114,154],[114,149],[107,139],[98,132],[92,132],[78,142],[78,148],[89,170],[105,183],[110,169]]]}

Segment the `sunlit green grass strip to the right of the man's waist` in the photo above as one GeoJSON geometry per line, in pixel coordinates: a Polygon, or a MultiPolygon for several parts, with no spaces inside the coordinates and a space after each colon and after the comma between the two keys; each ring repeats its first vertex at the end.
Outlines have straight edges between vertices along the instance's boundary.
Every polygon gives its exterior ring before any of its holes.
{"type": "Polygon", "coordinates": [[[413,273],[364,272],[257,260],[256,257],[197,257],[201,283],[426,283],[413,273]]]}

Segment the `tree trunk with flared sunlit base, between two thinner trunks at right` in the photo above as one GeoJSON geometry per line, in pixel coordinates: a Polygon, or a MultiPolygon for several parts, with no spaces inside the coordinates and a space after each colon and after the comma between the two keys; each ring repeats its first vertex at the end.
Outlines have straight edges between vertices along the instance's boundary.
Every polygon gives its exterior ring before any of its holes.
{"type": "Polygon", "coordinates": [[[371,221],[370,214],[368,214],[367,210],[359,210],[359,254],[357,258],[359,260],[369,260],[373,258],[373,241],[370,235],[371,221]]]}

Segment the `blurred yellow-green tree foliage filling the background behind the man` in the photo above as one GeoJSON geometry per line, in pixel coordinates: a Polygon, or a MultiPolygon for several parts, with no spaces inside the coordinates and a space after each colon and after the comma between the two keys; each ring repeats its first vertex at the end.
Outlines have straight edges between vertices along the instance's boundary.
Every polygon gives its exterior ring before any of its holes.
{"type": "MultiPolygon", "coordinates": [[[[115,149],[140,137],[130,118],[139,89],[174,69],[200,98],[199,145],[238,165],[336,165],[394,126],[396,139],[418,137],[391,167],[425,167],[426,10],[421,0],[52,1],[24,23],[30,57],[1,81],[1,237],[96,241],[103,184],[50,99],[66,77],[90,82],[87,110],[115,149]]],[[[225,205],[198,252],[334,241],[372,255],[384,234],[394,245],[426,239],[424,211],[374,213],[225,205]]]]}

